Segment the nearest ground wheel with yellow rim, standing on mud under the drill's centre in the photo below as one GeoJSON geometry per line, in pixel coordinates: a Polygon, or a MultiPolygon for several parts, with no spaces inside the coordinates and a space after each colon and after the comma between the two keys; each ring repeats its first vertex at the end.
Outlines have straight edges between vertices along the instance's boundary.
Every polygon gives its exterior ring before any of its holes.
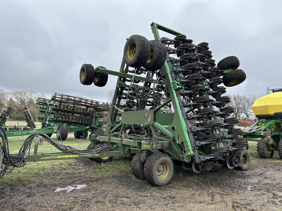
{"type": "Polygon", "coordinates": [[[164,186],[173,176],[173,162],[162,152],[154,153],[145,162],[145,179],[153,186],[164,186]]]}

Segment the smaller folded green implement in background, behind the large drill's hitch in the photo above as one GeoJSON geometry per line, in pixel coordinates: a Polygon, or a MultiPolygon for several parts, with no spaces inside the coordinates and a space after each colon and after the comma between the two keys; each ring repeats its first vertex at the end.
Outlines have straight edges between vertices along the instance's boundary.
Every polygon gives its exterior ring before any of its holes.
{"type": "Polygon", "coordinates": [[[54,93],[50,100],[38,98],[36,103],[36,121],[42,123],[41,128],[57,129],[58,140],[66,140],[69,132],[74,132],[76,139],[86,139],[88,131],[103,133],[109,109],[104,103],[59,93],[54,93]]]}

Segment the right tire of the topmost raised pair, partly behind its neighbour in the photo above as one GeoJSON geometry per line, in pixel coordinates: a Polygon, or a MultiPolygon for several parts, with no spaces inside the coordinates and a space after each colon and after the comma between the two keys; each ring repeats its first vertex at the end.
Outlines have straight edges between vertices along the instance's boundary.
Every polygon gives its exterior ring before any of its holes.
{"type": "Polygon", "coordinates": [[[159,70],[165,62],[166,58],[166,47],[162,42],[151,40],[150,43],[150,54],[147,63],[143,67],[150,71],[159,70]]]}

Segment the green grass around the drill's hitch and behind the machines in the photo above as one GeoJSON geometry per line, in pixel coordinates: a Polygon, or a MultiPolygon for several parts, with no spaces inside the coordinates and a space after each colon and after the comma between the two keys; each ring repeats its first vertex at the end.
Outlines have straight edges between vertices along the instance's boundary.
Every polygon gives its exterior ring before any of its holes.
{"type": "MultiPolygon", "coordinates": [[[[21,148],[24,140],[27,136],[15,136],[8,137],[9,149],[11,154],[17,154],[21,148]]],[[[53,134],[51,138],[60,143],[56,138],[56,134],[53,134]]],[[[252,164],[258,164],[262,158],[258,156],[256,150],[257,142],[248,142],[249,151],[251,154],[252,164]]],[[[64,145],[71,146],[76,149],[86,149],[90,144],[88,139],[75,139],[73,133],[69,133],[68,138],[63,141],[64,145]]],[[[34,151],[34,141],[31,147],[31,153],[34,151]]],[[[38,146],[38,153],[43,152],[58,152],[54,146],[50,145],[46,140],[43,140],[43,144],[38,146]]],[[[263,159],[271,162],[282,162],[278,152],[274,153],[273,158],[263,159]]],[[[7,173],[2,179],[0,179],[0,188],[8,186],[10,184],[20,184],[23,182],[33,182],[34,179],[41,179],[40,175],[50,172],[50,169],[59,169],[66,172],[73,172],[77,163],[74,159],[68,160],[56,160],[56,161],[39,161],[39,162],[28,162],[23,168],[15,168],[10,173],[7,173]]],[[[118,172],[130,172],[131,171],[131,158],[129,157],[115,157],[112,162],[97,164],[93,168],[86,168],[86,172],[92,175],[107,176],[114,175],[118,172]]],[[[175,172],[177,174],[177,171],[175,172]]],[[[181,173],[180,173],[181,174],[181,173]]],[[[187,174],[187,173],[186,173],[187,174]]],[[[184,174],[184,175],[186,175],[184,174]]],[[[134,176],[133,176],[134,177],[134,176]]],[[[193,172],[190,173],[189,177],[191,180],[197,181],[199,177],[193,172]]]]}

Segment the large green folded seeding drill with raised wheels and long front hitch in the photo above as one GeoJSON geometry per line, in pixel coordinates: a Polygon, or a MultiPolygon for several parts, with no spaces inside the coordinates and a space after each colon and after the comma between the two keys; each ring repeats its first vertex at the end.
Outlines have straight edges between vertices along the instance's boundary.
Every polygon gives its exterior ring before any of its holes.
{"type": "MultiPolygon", "coordinates": [[[[223,96],[225,86],[246,78],[237,69],[238,59],[230,56],[216,66],[207,42],[194,44],[184,34],[154,22],[151,29],[154,40],[141,35],[127,39],[119,71],[92,64],[80,69],[84,85],[102,87],[108,75],[118,77],[105,134],[91,135],[87,150],[73,150],[40,133],[61,152],[18,158],[17,164],[73,158],[108,162],[115,156],[134,155],[133,174],[154,186],[166,185],[175,166],[196,173],[209,171],[214,164],[249,169],[247,142],[236,141],[237,119],[230,117],[234,108],[226,106],[230,98],[223,96]],[[172,38],[161,38],[161,31],[172,38]]],[[[6,142],[2,135],[3,139],[6,142]]],[[[5,145],[3,149],[2,163],[13,165],[5,145]]]]}

